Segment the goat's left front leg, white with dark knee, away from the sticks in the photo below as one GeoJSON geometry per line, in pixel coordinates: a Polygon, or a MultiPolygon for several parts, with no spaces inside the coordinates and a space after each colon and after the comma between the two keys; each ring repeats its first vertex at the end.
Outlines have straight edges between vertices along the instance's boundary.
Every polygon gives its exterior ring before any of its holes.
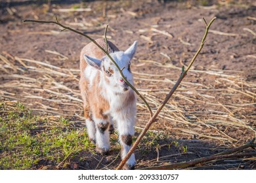
{"type": "Polygon", "coordinates": [[[96,152],[106,155],[110,150],[110,133],[108,126],[110,123],[106,118],[95,118],[96,125],[96,152]]]}

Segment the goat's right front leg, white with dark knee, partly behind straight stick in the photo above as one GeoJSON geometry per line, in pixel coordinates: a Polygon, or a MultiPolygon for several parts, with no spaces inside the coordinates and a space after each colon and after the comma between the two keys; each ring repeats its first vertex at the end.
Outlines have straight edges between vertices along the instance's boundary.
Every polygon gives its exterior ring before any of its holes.
{"type": "MultiPolygon", "coordinates": [[[[119,131],[119,142],[121,144],[121,159],[125,158],[131,145],[133,144],[133,135],[135,119],[129,120],[119,120],[117,122],[117,129],[119,131]]],[[[131,157],[127,160],[123,169],[135,169],[135,154],[132,154],[131,157]]]]}

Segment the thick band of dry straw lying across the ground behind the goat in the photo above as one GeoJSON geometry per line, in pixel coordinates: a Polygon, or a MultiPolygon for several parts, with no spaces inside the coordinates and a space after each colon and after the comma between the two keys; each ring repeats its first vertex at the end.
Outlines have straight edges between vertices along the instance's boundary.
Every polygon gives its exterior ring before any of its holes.
{"type": "MultiPolygon", "coordinates": [[[[58,54],[54,50],[49,50],[49,52],[64,59],[62,54],[58,54]]],[[[162,64],[154,60],[139,60],[139,62],[139,64],[154,65],[157,68],[181,70],[169,63],[162,64]]],[[[5,81],[0,86],[0,99],[22,101],[26,105],[31,105],[35,112],[52,116],[52,119],[57,116],[67,116],[83,120],[79,90],[67,84],[77,83],[78,69],[64,69],[45,61],[13,57],[5,52],[0,56],[0,70],[0,76],[5,81]],[[33,101],[37,101],[37,103],[33,101]]],[[[213,139],[229,146],[237,146],[240,139],[228,133],[228,129],[237,131],[242,129],[248,137],[254,137],[255,115],[249,111],[253,110],[256,104],[256,84],[244,80],[237,71],[190,69],[190,72],[190,75],[214,76],[215,82],[221,83],[222,86],[213,88],[207,84],[189,82],[188,80],[182,82],[177,92],[173,94],[175,100],[170,100],[163,105],[161,112],[158,113],[161,117],[161,126],[171,133],[175,132],[176,135],[185,137],[193,135],[201,139],[213,139]],[[218,99],[216,92],[230,97],[239,95],[239,101],[236,103],[216,101],[218,99]],[[176,101],[176,99],[179,100],[176,101]],[[188,110],[188,108],[197,108],[198,106],[204,108],[188,110]]],[[[139,92],[144,99],[148,100],[148,106],[152,106],[152,114],[156,114],[158,106],[162,104],[160,98],[169,93],[169,86],[175,84],[175,80],[166,78],[171,75],[169,73],[166,75],[133,73],[136,82],[150,84],[150,88],[140,89],[139,92]]],[[[140,126],[143,126],[146,122],[144,116],[147,114],[147,107],[141,102],[137,103],[138,122],[140,126]]],[[[49,119],[51,118],[49,117],[49,119]]],[[[164,158],[159,157],[158,159],[164,158]]]]}

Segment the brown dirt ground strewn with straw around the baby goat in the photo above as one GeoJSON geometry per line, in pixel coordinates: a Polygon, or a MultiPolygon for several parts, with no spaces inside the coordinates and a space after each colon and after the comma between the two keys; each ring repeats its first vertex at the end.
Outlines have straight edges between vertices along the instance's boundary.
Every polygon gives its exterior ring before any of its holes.
{"type": "MultiPolygon", "coordinates": [[[[167,135],[160,138],[162,148],[137,150],[137,169],[211,156],[255,137],[254,1],[0,1],[0,100],[20,101],[45,116],[65,116],[83,128],[79,53],[89,41],[57,25],[22,22],[54,21],[54,15],[94,39],[109,24],[108,40],[120,50],[137,40],[131,65],[135,87],[153,111],[198,50],[202,17],[207,22],[217,17],[191,71],[151,128],[167,135]],[[165,146],[173,141],[181,145],[165,146]]],[[[140,129],[149,115],[140,99],[137,109],[140,129]]],[[[103,159],[83,156],[89,160],[72,159],[77,169],[113,169],[120,161],[118,152],[103,159]]],[[[190,169],[256,169],[255,160],[219,160],[190,169]]]]}

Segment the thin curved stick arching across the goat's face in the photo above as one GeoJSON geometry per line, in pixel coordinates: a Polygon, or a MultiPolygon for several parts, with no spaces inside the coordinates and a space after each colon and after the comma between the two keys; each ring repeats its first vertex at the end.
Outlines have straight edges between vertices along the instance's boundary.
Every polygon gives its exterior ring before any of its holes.
{"type": "MultiPolygon", "coordinates": [[[[56,18],[56,16],[55,16],[56,18]]],[[[150,106],[148,105],[146,99],[144,99],[144,97],[142,95],[140,95],[140,93],[138,92],[138,90],[127,80],[127,78],[125,78],[125,76],[123,75],[123,72],[121,71],[120,67],[117,65],[116,61],[114,61],[114,59],[112,58],[112,56],[110,56],[110,54],[108,53],[107,50],[104,50],[104,48],[102,48],[102,46],[100,46],[94,39],[92,39],[91,37],[89,37],[88,35],[77,31],[75,29],[72,29],[71,27],[67,27],[66,25],[60,24],[58,22],[58,19],[56,18],[56,22],[54,21],[42,21],[42,20],[23,20],[23,22],[35,22],[35,23],[41,23],[41,24],[56,24],[59,25],[60,27],[63,27],[64,29],[68,29],[74,33],[77,33],[79,35],[82,35],[83,37],[86,37],[87,39],[89,39],[91,42],[93,42],[98,48],[100,48],[100,50],[102,50],[102,52],[104,52],[104,54],[106,54],[106,56],[108,56],[108,58],[111,59],[111,61],[116,65],[119,73],[121,74],[123,80],[125,80],[125,82],[131,87],[131,89],[137,93],[137,95],[139,95],[140,99],[142,99],[142,101],[145,103],[146,107],[148,108],[148,111],[150,112],[150,117],[152,117],[153,113],[152,110],[150,108],[150,106]]]]}

